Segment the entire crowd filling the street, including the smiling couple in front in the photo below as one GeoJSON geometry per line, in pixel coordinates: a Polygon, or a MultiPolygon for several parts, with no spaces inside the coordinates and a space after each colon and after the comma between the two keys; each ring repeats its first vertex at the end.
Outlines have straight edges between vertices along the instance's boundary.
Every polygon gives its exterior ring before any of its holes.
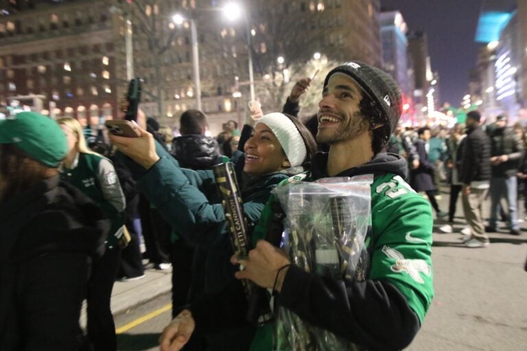
{"type": "MultiPolygon", "coordinates": [[[[109,134],[108,143],[87,143],[72,118],[20,112],[2,121],[2,350],[117,350],[113,284],[143,278],[145,267],[172,267],[173,320],[161,334],[161,350],[292,350],[298,340],[281,332],[276,316],[264,318],[279,308],[319,328],[301,338],[316,343],[314,350],[331,342],[316,330],[349,350],[408,346],[434,295],[432,208],[437,219],[454,223],[462,193],[467,247],[488,245],[486,233],[502,216],[518,234],[524,132],[506,128],[505,117],[483,131],[477,111],[452,130],[403,130],[399,87],[364,62],[336,66],[323,86],[310,85],[298,80],[282,112],[264,114],[253,101],[242,130],[229,121],[217,138],[207,136],[200,110],[181,115],[175,138],[139,111],[140,136],[109,134]],[[304,125],[298,112],[307,88],[320,89],[322,99],[304,125]],[[230,214],[211,170],[223,162],[233,162],[239,182],[253,247],[248,256],[233,250],[230,214]],[[367,176],[362,274],[307,271],[288,256],[285,241],[270,240],[292,215],[274,194],[277,186],[367,176]],[[437,201],[443,182],[450,185],[448,211],[437,201]],[[487,193],[491,214],[484,226],[487,193]],[[260,301],[267,308],[253,319],[246,281],[267,289],[260,301]]],[[[315,241],[310,245],[321,252],[315,241]]],[[[330,259],[320,255],[317,260],[330,259]]],[[[338,262],[345,271],[347,261],[338,262]]]]}

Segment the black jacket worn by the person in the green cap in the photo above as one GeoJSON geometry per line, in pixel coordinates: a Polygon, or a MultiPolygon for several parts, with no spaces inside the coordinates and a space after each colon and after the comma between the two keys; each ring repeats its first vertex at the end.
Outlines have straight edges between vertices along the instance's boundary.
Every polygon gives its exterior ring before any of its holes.
{"type": "Polygon", "coordinates": [[[91,260],[109,228],[58,175],[0,204],[1,350],[80,350],[91,260]]]}

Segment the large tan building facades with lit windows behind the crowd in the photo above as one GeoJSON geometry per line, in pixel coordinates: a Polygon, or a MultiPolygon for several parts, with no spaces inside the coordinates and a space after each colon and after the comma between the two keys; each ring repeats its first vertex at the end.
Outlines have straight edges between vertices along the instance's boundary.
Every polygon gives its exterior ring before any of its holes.
{"type": "Polygon", "coordinates": [[[379,0],[242,4],[248,7],[247,23],[226,21],[218,11],[222,1],[216,0],[5,1],[0,9],[0,102],[42,95],[43,112],[95,125],[99,117],[119,114],[128,64],[143,79],[146,114],[177,127],[177,117],[197,106],[189,19],[196,24],[202,110],[209,115],[212,134],[228,119],[244,121],[250,99],[248,42],[254,84],[271,71],[285,76],[289,69],[284,92],[300,78],[294,64],[315,52],[331,60],[381,64],[379,0]],[[176,13],[187,21],[176,25],[176,13]]]}

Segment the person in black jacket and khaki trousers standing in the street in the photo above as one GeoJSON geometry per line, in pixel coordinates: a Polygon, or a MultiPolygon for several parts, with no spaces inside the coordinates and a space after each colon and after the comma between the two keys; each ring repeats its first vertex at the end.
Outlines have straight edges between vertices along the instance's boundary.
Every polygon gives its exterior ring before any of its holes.
{"type": "Polygon", "coordinates": [[[467,136],[463,141],[465,146],[461,160],[462,204],[471,232],[465,241],[467,247],[489,245],[489,236],[483,224],[482,205],[491,180],[491,146],[489,137],[480,127],[480,119],[478,111],[467,113],[467,136]]]}

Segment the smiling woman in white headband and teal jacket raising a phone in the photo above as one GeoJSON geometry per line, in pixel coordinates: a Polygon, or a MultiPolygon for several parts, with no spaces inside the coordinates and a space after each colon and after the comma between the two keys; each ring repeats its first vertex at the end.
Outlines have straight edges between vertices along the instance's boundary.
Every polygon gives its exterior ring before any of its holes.
{"type": "MultiPolygon", "coordinates": [[[[229,262],[233,251],[213,173],[180,168],[177,160],[154,144],[150,133],[139,130],[140,138],[110,139],[142,166],[129,165],[138,178],[139,191],[159,208],[176,234],[195,247],[190,299],[218,293],[234,280],[235,268],[229,262]]],[[[271,113],[257,121],[253,134],[244,143],[244,154],[235,152],[232,158],[237,171],[243,166],[243,173],[237,172],[237,178],[249,234],[270,191],[282,180],[303,172],[315,151],[312,134],[295,117],[271,113]]],[[[179,307],[174,306],[175,311],[179,307]]],[[[248,348],[252,333],[244,333],[248,348]]],[[[229,338],[223,340],[229,342],[229,338]]],[[[233,345],[239,348],[240,340],[233,340],[233,345]]]]}

